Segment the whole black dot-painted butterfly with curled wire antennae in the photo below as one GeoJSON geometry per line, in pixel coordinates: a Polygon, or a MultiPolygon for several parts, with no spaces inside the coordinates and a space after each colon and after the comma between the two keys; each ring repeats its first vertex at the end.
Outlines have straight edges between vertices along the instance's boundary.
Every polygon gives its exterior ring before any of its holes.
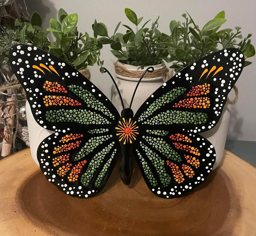
{"type": "Polygon", "coordinates": [[[131,101],[121,116],[92,82],[45,51],[16,45],[10,63],[34,119],[55,131],[37,151],[50,183],[71,196],[95,196],[121,154],[124,184],[130,183],[134,156],[149,189],[175,198],[201,184],[213,169],[214,147],[198,133],[212,129],[221,117],[244,56],[238,49],[210,54],[164,83],[135,115],[131,101]]]}

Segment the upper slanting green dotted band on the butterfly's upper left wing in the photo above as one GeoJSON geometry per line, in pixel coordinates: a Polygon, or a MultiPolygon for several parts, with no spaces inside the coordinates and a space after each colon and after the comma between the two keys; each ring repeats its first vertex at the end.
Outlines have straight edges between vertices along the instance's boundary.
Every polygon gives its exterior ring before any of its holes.
{"type": "Polygon", "coordinates": [[[78,97],[83,99],[86,102],[86,105],[90,107],[91,109],[94,109],[96,111],[101,111],[103,114],[109,116],[113,120],[115,119],[112,113],[104,106],[102,102],[100,102],[98,99],[95,98],[95,96],[88,91],[87,89],[84,89],[82,86],[78,85],[69,85],[67,86],[69,89],[78,97]]]}

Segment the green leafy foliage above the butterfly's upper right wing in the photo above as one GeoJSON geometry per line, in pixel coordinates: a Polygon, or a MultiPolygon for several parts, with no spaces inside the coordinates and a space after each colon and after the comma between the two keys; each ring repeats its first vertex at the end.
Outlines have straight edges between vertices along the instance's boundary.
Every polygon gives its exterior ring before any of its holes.
{"type": "MultiPolygon", "coordinates": [[[[170,68],[175,69],[176,72],[212,52],[229,47],[240,49],[246,58],[255,55],[255,49],[250,40],[251,34],[243,38],[241,27],[219,30],[226,22],[225,11],[219,12],[201,29],[188,12],[182,16],[185,18],[183,23],[176,20],[170,21],[169,41],[171,42],[161,43],[168,46],[169,56],[165,60],[173,62],[170,68]],[[241,41],[237,42],[238,40],[241,41]]],[[[249,64],[251,62],[245,62],[245,66],[249,64]]]]}

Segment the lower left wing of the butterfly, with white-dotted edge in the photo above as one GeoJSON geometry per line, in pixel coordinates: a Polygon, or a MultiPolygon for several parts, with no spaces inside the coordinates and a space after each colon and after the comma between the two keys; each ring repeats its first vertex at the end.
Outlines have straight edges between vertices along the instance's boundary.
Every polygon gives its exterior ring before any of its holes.
{"type": "Polygon", "coordinates": [[[119,143],[106,128],[55,132],[38,147],[41,171],[64,193],[79,198],[97,195],[117,162],[119,143]]]}

